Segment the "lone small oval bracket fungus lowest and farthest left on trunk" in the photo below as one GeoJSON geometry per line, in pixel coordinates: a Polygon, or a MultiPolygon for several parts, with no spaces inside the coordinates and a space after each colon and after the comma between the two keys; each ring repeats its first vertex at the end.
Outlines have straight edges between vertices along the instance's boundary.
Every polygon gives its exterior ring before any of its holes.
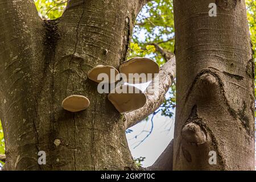
{"type": "Polygon", "coordinates": [[[85,110],[89,107],[90,101],[87,97],[73,95],[65,98],[62,102],[62,106],[65,110],[71,112],[78,112],[85,110]]]}

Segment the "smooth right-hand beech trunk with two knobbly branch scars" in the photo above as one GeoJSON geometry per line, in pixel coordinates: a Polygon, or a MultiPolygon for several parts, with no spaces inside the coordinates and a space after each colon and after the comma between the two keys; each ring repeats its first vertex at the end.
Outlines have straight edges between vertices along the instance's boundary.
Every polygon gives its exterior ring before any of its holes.
{"type": "Polygon", "coordinates": [[[174,170],[254,169],[254,61],[244,1],[174,0],[174,170]],[[216,164],[210,164],[212,152],[216,164]],[[210,152],[210,153],[209,153],[210,152]],[[209,155],[210,154],[210,155],[209,155]]]}

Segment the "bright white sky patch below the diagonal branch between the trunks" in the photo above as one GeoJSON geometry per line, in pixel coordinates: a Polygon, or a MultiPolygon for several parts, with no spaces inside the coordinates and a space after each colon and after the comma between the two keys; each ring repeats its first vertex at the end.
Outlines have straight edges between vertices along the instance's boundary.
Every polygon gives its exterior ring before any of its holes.
{"type": "Polygon", "coordinates": [[[146,137],[148,133],[144,132],[135,139],[143,130],[150,131],[151,121],[142,121],[131,127],[132,133],[126,134],[127,141],[134,158],[145,157],[142,162],[143,167],[151,166],[167,145],[174,138],[174,119],[164,117],[160,113],[154,117],[154,129],[152,133],[138,147],[137,144],[146,137]]]}

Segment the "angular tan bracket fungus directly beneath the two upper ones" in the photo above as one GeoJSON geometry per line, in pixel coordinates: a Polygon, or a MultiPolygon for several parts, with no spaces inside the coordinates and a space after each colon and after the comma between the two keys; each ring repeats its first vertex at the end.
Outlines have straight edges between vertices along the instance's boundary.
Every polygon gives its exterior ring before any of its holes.
{"type": "Polygon", "coordinates": [[[108,99],[119,113],[137,110],[146,104],[146,95],[135,86],[121,85],[114,91],[114,93],[110,92],[108,99]]]}

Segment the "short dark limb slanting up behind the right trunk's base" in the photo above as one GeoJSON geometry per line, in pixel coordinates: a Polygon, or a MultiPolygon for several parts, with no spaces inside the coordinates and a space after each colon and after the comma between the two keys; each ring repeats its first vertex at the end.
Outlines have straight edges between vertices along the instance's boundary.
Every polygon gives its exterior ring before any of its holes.
{"type": "Polygon", "coordinates": [[[159,156],[156,162],[146,168],[148,171],[172,171],[172,163],[174,156],[174,139],[168,144],[163,153],[159,156]]]}

